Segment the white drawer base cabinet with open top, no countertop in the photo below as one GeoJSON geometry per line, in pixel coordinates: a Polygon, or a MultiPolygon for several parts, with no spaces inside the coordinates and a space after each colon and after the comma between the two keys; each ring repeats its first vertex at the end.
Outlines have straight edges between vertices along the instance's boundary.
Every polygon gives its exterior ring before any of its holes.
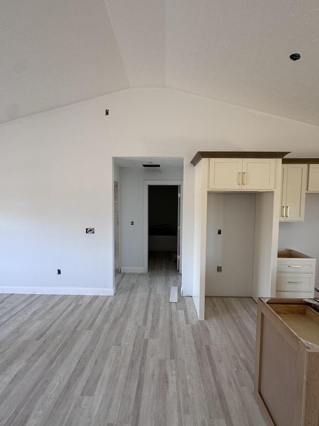
{"type": "Polygon", "coordinates": [[[314,297],[316,259],[292,249],[278,249],[277,297],[314,297]]]}

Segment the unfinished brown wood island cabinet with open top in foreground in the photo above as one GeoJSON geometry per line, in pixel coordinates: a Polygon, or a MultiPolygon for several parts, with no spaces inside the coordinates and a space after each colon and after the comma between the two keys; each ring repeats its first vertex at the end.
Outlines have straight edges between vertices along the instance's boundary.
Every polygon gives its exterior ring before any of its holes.
{"type": "Polygon", "coordinates": [[[258,299],[255,398],[267,425],[319,426],[319,312],[258,299]]]}

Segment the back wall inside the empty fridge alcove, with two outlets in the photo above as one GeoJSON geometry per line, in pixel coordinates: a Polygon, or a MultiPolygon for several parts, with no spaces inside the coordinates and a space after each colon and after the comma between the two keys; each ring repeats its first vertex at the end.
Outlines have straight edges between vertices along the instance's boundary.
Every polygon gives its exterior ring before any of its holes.
{"type": "Polygon", "coordinates": [[[255,200],[249,192],[208,193],[206,296],[252,296],[255,200]]]}

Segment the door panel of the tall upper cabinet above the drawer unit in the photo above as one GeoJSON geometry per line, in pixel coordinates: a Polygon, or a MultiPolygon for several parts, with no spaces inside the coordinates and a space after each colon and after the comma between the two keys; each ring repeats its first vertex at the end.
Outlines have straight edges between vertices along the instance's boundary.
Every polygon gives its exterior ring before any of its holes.
{"type": "Polygon", "coordinates": [[[288,164],[286,222],[305,220],[307,164],[288,164]]]}

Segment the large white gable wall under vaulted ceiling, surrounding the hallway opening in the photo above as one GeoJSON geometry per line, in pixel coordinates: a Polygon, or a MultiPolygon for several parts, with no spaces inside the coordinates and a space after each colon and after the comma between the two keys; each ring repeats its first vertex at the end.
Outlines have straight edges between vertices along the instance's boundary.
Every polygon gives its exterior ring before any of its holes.
{"type": "Polygon", "coordinates": [[[318,140],[319,127],[313,125],[153,88],[4,123],[0,291],[113,294],[112,157],[176,156],[185,158],[183,290],[190,295],[195,153],[267,149],[317,157],[318,140]],[[86,235],[87,227],[96,233],[86,235]]]}

